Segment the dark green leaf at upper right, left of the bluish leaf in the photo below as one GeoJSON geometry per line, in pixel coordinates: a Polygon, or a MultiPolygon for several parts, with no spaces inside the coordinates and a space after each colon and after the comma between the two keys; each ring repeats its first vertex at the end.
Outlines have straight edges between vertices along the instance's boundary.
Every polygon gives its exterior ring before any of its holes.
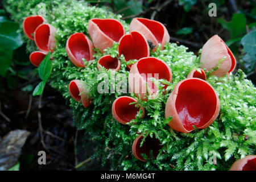
{"type": "Polygon", "coordinates": [[[238,38],[246,33],[246,17],[243,14],[233,14],[230,22],[227,22],[224,18],[219,18],[218,23],[229,31],[232,39],[238,38]]]}

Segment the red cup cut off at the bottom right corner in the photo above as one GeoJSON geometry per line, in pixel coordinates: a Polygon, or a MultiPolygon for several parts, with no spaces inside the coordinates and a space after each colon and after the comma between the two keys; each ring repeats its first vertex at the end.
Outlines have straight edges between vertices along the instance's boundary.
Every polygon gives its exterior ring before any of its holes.
{"type": "Polygon", "coordinates": [[[229,171],[256,171],[256,155],[247,155],[243,159],[238,159],[229,171]]]}

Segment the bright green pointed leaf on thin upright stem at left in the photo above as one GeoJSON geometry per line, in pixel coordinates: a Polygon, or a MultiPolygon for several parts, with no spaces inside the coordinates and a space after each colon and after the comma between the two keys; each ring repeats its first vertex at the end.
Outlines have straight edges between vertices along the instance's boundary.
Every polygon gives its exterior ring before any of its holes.
{"type": "Polygon", "coordinates": [[[51,52],[48,52],[44,60],[40,63],[38,72],[39,77],[46,82],[52,72],[52,61],[49,59],[51,52]]]}

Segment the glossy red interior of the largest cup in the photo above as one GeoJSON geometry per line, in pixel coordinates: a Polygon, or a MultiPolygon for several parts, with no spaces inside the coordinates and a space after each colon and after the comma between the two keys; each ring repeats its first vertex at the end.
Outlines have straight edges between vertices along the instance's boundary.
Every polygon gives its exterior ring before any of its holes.
{"type": "Polygon", "coordinates": [[[204,81],[186,80],[179,86],[175,107],[186,130],[193,130],[192,125],[202,127],[216,111],[216,93],[204,81]]]}

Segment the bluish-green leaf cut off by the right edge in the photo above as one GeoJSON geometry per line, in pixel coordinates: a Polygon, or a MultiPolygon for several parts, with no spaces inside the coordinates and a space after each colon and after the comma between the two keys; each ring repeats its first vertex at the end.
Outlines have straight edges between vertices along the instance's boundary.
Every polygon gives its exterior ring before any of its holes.
{"type": "Polygon", "coordinates": [[[256,60],[256,31],[250,32],[243,36],[241,40],[243,48],[251,57],[256,60]]]}

